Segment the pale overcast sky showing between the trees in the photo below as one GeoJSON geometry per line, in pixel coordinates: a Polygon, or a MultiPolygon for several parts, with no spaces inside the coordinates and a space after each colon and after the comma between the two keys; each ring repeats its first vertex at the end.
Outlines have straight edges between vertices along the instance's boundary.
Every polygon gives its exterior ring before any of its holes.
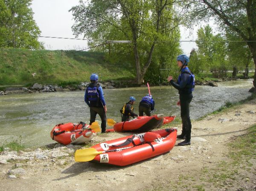
{"type": "MultiPolygon", "coordinates": [[[[34,20],[41,30],[41,36],[74,38],[75,35],[73,35],[71,29],[74,20],[72,12],[68,10],[76,5],[79,5],[79,0],[33,0],[31,7],[34,12],[34,20]]],[[[180,40],[196,40],[197,29],[198,28],[195,28],[192,34],[189,34],[187,31],[181,31],[180,40]]],[[[79,38],[83,37],[80,36],[79,38]]],[[[40,37],[39,41],[44,42],[45,48],[50,50],[70,50],[87,47],[86,40],[40,37]]],[[[183,42],[180,44],[184,54],[189,54],[192,48],[196,48],[195,42],[183,42]]]]}

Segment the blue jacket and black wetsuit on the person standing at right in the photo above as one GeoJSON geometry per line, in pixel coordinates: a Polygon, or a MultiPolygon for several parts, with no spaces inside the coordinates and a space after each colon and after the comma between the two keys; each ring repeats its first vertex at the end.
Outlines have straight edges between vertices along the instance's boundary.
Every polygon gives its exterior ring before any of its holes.
{"type": "Polygon", "coordinates": [[[189,116],[189,104],[192,101],[192,88],[189,87],[192,76],[189,74],[189,68],[182,68],[177,83],[174,80],[170,80],[170,83],[175,87],[180,94],[180,117],[182,119],[182,133],[179,136],[186,136],[186,141],[191,139],[191,120],[189,116]]]}

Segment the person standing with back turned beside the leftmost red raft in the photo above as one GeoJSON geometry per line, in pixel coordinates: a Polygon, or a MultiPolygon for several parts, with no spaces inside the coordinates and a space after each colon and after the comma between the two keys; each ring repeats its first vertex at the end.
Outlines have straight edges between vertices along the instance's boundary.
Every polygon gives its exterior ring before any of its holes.
{"type": "Polygon", "coordinates": [[[99,117],[102,120],[102,133],[105,133],[107,106],[102,87],[97,83],[98,79],[99,76],[97,74],[92,74],[90,76],[91,83],[85,90],[84,101],[90,107],[90,125],[95,122],[96,115],[99,114],[99,117]]]}

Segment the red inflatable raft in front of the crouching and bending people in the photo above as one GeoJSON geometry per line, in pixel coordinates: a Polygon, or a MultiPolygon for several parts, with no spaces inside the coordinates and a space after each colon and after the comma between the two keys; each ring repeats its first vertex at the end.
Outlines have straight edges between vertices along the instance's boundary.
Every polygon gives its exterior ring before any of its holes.
{"type": "Polygon", "coordinates": [[[149,131],[163,125],[163,114],[153,116],[141,116],[134,120],[116,123],[114,131],[149,131]]]}

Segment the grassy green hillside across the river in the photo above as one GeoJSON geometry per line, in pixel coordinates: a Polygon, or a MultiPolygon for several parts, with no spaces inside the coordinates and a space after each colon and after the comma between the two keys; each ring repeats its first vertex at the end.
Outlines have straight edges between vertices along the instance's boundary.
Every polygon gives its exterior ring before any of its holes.
{"type": "Polygon", "coordinates": [[[108,63],[104,54],[0,48],[0,85],[76,83],[97,72],[100,80],[132,80],[130,64],[108,63]],[[33,76],[34,74],[34,76],[33,76]]]}

